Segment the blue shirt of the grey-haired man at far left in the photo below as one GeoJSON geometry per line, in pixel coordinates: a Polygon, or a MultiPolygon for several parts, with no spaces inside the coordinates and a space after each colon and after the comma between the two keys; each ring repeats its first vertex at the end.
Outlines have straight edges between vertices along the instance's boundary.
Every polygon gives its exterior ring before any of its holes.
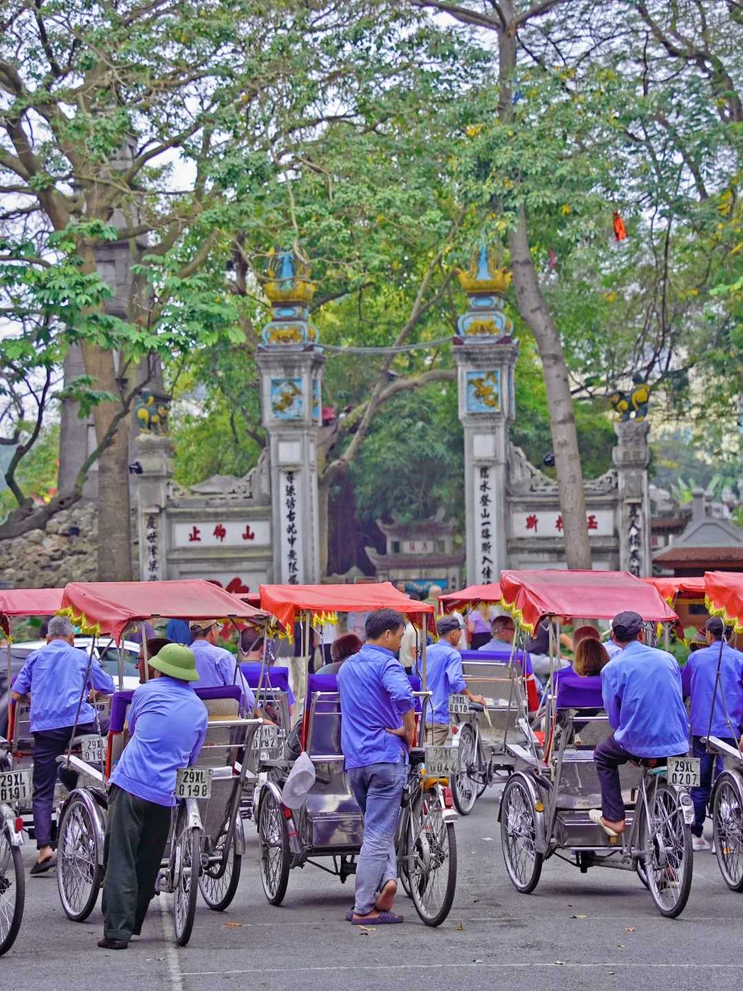
{"type": "MultiPolygon", "coordinates": [[[[32,733],[72,725],[85,689],[87,666],[88,655],[85,651],[70,647],[62,639],[54,639],[29,654],[18,673],[13,691],[19,695],[31,693],[32,733]]],[[[106,693],[114,690],[113,678],[106,674],[95,658],[90,664],[85,696],[91,688],[106,693]]],[[[93,707],[83,700],[77,724],[84,725],[94,720],[93,707]]]]}

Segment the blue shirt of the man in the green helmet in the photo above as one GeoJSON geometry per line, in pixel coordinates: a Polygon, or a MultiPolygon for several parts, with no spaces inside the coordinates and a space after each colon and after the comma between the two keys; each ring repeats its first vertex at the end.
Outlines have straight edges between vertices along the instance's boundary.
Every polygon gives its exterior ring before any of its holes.
{"type": "Polygon", "coordinates": [[[191,682],[161,675],[140,685],[127,715],[133,736],[111,782],[147,802],[174,805],[177,770],[196,763],[208,720],[191,682]]]}

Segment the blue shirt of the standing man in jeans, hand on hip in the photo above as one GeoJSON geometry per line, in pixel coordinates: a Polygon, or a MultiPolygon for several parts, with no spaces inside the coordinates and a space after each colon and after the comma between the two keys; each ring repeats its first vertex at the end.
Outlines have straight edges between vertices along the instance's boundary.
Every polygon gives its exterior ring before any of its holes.
{"type": "Polygon", "coordinates": [[[407,763],[405,740],[386,731],[402,726],[402,716],[413,709],[410,682],[391,650],[365,643],[343,662],[336,677],[346,769],[407,763]]]}

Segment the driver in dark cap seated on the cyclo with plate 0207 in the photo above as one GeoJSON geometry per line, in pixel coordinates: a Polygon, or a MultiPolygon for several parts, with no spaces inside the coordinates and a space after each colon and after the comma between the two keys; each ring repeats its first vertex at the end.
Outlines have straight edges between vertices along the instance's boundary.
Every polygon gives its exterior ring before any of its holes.
{"type": "Polygon", "coordinates": [[[591,821],[609,836],[624,832],[619,766],[628,760],[681,756],[689,750],[689,723],[676,658],[645,645],[642,616],[620,612],[612,621],[621,648],[601,670],[603,708],[614,732],[593,751],[601,811],[591,821]]]}

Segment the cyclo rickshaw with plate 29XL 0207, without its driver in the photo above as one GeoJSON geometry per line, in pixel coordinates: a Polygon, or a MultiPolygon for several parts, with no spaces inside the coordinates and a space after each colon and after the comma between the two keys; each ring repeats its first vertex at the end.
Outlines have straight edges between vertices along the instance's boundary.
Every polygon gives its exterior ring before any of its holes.
{"type": "MultiPolygon", "coordinates": [[[[547,574],[541,572],[540,576],[547,574]]],[[[618,573],[591,573],[593,576],[607,574],[618,573]]],[[[501,575],[501,582],[504,575],[508,573],[501,575]]],[[[510,575],[514,585],[521,576],[524,583],[528,581],[528,573],[511,572],[510,575]]],[[[627,578],[638,581],[634,576],[627,575],[627,578]]],[[[601,581],[598,577],[593,580],[601,581]]],[[[541,591],[544,596],[544,590],[541,591]]],[[[646,631],[651,642],[660,622],[667,625],[676,621],[670,607],[657,592],[655,594],[658,610],[646,609],[646,618],[650,620],[646,631]]],[[[586,616],[590,606],[585,602],[584,599],[578,603],[575,609],[567,609],[563,602],[559,611],[546,606],[541,613],[550,622],[551,690],[546,704],[545,745],[540,747],[534,734],[530,734],[527,746],[508,745],[516,766],[503,790],[498,810],[506,871],[514,887],[524,894],[536,888],[542,864],[551,856],[574,864],[582,873],[591,866],[636,871],[661,914],[675,918],[687,904],[691,885],[693,806],[688,790],[668,783],[665,764],[655,766],[655,761],[627,764],[620,768],[625,807],[631,807],[626,815],[625,832],[621,837],[608,836],[588,818],[588,809],[600,806],[600,788],[592,745],[582,743],[576,736],[578,730],[584,732],[587,727],[590,731],[608,723],[600,699],[600,680],[595,679],[598,696],[591,700],[587,711],[573,705],[559,706],[559,682],[555,689],[555,675],[560,671],[560,618],[590,618],[586,616]],[[596,705],[598,702],[600,708],[596,705]],[[639,815],[638,808],[641,810],[639,815]],[[526,851],[522,859],[517,850],[519,843],[522,844],[521,852],[526,851]],[[569,856],[564,855],[565,852],[569,856]]],[[[509,606],[504,599],[504,606],[514,614],[514,645],[517,645],[519,640],[525,641],[531,631],[513,602],[509,606]]],[[[622,608],[638,608],[631,587],[626,595],[617,597],[613,612],[622,608]]],[[[601,614],[595,618],[607,616],[601,614]]],[[[588,682],[588,679],[578,681],[588,682]]]]}

